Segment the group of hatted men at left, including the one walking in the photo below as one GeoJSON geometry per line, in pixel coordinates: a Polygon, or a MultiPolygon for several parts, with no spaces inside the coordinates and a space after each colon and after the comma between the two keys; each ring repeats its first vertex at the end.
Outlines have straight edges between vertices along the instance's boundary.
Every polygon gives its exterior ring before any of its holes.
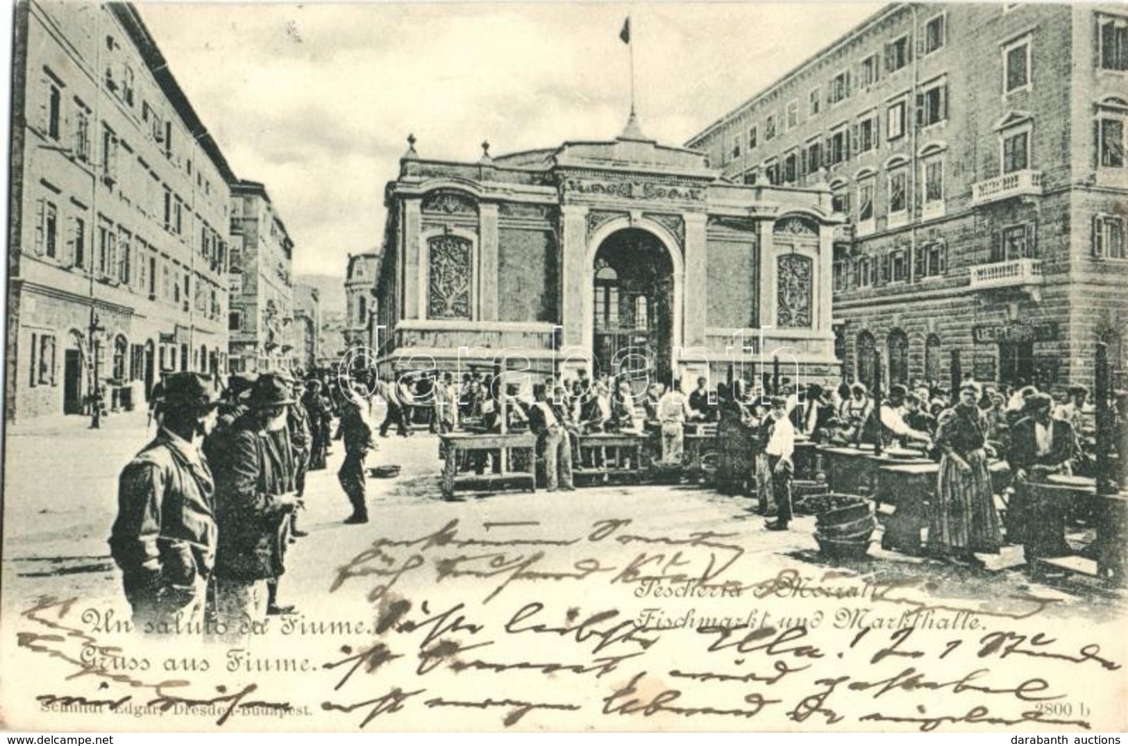
{"type": "Polygon", "coordinates": [[[167,374],[153,390],[156,435],[124,468],[111,553],[139,628],[208,621],[238,639],[279,602],[287,549],[305,536],[306,474],[326,468],[333,421],[338,471],[365,523],[364,456],[372,449],[361,385],[327,375],[167,374]]]}

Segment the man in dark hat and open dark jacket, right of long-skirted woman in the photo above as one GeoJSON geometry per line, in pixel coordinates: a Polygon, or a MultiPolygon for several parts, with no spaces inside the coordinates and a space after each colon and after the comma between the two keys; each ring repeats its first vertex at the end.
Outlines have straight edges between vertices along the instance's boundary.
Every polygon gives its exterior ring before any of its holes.
{"type": "Polygon", "coordinates": [[[1049,516],[1042,514],[1030,495],[1030,485],[1046,481],[1047,476],[1068,474],[1069,462],[1075,455],[1077,441],[1073,426],[1054,419],[1052,405],[1048,393],[1030,394],[1023,405],[1022,418],[1011,428],[1007,460],[1014,498],[1007,510],[1007,541],[1023,544],[1028,563],[1038,557],[1068,551],[1064,527],[1050,525],[1049,516]]]}

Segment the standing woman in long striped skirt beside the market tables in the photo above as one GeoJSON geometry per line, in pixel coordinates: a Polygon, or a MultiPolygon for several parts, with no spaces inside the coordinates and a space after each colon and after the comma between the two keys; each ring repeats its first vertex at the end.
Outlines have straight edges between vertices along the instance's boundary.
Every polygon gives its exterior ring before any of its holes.
{"type": "Polygon", "coordinates": [[[936,445],[943,456],[928,521],[933,553],[977,566],[982,562],[976,553],[997,554],[1002,544],[984,447],[987,420],[978,407],[980,393],[978,383],[964,382],[960,402],[941,415],[936,445]]]}

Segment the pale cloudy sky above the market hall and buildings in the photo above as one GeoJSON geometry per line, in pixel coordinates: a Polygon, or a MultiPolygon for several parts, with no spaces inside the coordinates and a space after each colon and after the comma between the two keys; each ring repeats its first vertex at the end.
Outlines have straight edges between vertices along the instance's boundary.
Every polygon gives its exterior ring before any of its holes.
{"type": "Polygon", "coordinates": [[[384,187],[421,158],[610,140],[635,103],[680,145],[882,3],[139,2],[235,174],[262,181],[298,274],[344,275],[384,234],[384,187]]]}

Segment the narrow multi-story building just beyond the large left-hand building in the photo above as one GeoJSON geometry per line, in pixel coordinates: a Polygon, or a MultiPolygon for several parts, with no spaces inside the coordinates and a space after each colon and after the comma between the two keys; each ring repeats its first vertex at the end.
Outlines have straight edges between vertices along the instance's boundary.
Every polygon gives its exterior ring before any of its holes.
{"type": "Polygon", "coordinates": [[[231,185],[230,230],[230,371],[294,367],[293,242],[266,187],[247,180],[231,185]]]}

